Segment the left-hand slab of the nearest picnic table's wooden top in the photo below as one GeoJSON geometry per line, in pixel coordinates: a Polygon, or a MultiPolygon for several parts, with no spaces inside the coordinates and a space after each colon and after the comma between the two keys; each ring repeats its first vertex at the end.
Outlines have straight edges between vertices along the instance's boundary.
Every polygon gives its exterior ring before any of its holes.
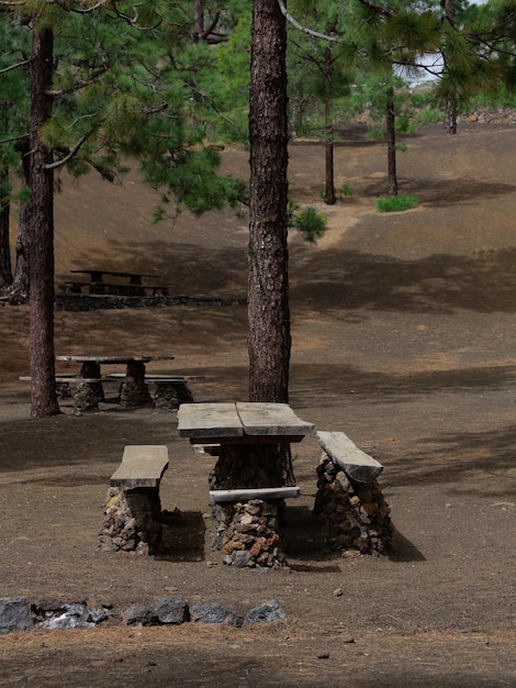
{"type": "Polygon", "coordinates": [[[178,432],[182,437],[235,437],[244,434],[234,403],[181,403],[178,432]]]}

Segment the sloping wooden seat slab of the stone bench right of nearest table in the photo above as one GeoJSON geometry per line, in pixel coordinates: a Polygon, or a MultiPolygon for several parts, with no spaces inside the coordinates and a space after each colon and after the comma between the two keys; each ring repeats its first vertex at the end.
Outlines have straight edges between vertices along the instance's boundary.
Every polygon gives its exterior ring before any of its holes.
{"type": "Polygon", "coordinates": [[[382,473],[383,466],[366,454],[344,432],[318,431],[317,442],[347,476],[357,482],[373,482],[382,473]]]}

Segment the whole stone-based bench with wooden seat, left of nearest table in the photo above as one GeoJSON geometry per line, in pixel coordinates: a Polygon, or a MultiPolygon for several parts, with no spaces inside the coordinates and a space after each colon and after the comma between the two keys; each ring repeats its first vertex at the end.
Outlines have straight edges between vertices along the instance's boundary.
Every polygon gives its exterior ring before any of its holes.
{"type": "Polygon", "coordinates": [[[149,554],[162,552],[159,486],[168,463],[165,445],[124,447],[122,463],[110,478],[101,533],[115,550],[137,550],[145,543],[149,554]]]}

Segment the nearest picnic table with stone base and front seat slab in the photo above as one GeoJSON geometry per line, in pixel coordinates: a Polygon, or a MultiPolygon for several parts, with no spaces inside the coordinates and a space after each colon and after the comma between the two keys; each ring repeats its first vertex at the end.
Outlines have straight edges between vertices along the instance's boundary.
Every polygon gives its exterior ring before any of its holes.
{"type": "Polygon", "coordinates": [[[287,403],[179,407],[180,436],[189,437],[193,445],[218,445],[210,499],[218,521],[213,545],[225,553],[225,564],[276,567],[284,563],[283,500],[300,495],[299,487],[285,484],[284,453],[290,453],[290,443],[301,442],[313,428],[287,403]]]}

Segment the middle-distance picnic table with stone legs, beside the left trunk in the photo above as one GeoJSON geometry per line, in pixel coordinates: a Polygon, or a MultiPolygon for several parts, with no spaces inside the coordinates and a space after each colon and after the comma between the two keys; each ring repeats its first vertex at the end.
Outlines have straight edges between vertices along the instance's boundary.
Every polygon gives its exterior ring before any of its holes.
{"type": "MultiPolygon", "coordinates": [[[[103,365],[124,365],[125,377],[121,385],[120,403],[121,406],[141,406],[150,401],[148,387],[145,380],[146,364],[152,360],[170,360],[173,356],[146,356],[146,355],[114,355],[114,356],[94,356],[94,355],[59,355],[56,360],[67,360],[80,363],[80,378],[88,379],[88,388],[91,389],[97,397],[97,402],[104,399],[104,390],[102,381],[105,377],[101,375],[101,366],[103,365]],[[98,379],[98,382],[91,382],[91,379],[98,379]]],[[[92,399],[94,404],[94,400],[92,399]]]]}

